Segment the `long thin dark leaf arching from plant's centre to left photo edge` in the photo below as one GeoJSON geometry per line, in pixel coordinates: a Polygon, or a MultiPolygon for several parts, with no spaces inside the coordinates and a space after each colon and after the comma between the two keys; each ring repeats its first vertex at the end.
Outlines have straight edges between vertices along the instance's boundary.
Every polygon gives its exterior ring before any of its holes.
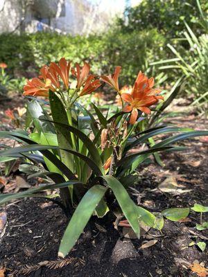
{"type": "MultiPolygon", "coordinates": [[[[83,154],[80,154],[79,152],[73,151],[73,150],[68,150],[68,149],[64,149],[64,148],[60,148],[58,146],[53,146],[53,145],[39,145],[39,144],[32,144],[32,145],[26,145],[26,146],[19,146],[17,148],[10,148],[7,150],[2,150],[0,151],[0,157],[12,157],[13,154],[19,154],[19,153],[24,153],[24,152],[31,152],[31,151],[40,151],[43,154],[45,153],[44,151],[47,150],[47,156],[49,156],[51,158],[51,155],[53,157],[55,157],[54,154],[52,154],[49,149],[57,149],[57,150],[64,150],[66,152],[69,152],[71,154],[76,155],[77,157],[80,157],[80,159],[83,159],[83,161],[85,161],[88,166],[90,168],[92,168],[92,170],[94,170],[94,172],[96,173],[96,175],[100,176],[102,175],[101,170],[98,168],[98,166],[96,165],[96,163],[94,163],[94,161],[92,161],[92,159],[89,159],[88,157],[86,157],[83,154]],[[49,153],[50,154],[49,154],[49,153]]],[[[45,155],[45,154],[44,154],[45,155]]],[[[47,157],[48,159],[50,159],[49,157],[47,157]]],[[[55,157],[56,158],[56,157],[55,157]]],[[[56,158],[57,159],[57,158],[56,158]]],[[[51,159],[50,159],[51,161],[51,159]]],[[[60,162],[60,160],[58,159],[58,161],[60,162]]],[[[52,161],[53,162],[53,161],[52,161]]]]}

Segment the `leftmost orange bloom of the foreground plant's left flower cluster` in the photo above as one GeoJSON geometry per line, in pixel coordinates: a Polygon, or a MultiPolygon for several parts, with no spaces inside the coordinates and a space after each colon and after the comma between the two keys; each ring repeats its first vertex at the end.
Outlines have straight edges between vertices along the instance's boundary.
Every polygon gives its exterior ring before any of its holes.
{"type": "Polygon", "coordinates": [[[27,81],[24,86],[24,96],[49,96],[49,89],[51,89],[51,80],[46,79],[45,82],[39,78],[33,78],[27,81]]]}

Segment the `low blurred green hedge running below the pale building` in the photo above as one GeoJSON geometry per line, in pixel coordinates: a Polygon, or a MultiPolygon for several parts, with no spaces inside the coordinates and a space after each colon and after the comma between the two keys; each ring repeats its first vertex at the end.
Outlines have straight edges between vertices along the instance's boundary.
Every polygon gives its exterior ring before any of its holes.
{"type": "Polygon", "coordinates": [[[110,73],[121,65],[124,82],[133,82],[139,70],[164,57],[164,36],[157,30],[123,34],[110,30],[89,37],[35,33],[32,35],[0,35],[0,61],[8,64],[12,75],[33,77],[43,64],[66,57],[73,62],[87,61],[92,71],[110,73]]]}

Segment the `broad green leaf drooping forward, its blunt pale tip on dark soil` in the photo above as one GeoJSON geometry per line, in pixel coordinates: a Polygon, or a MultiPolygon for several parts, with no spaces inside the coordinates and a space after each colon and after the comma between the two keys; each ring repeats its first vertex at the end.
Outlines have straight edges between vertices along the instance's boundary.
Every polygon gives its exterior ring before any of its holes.
{"type": "Polygon", "coordinates": [[[90,188],[85,193],[83,199],[78,204],[75,212],[73,213],[71,220],[67,226],[64,236],[61,240],[58,256],[64,258],[67,256],[73,245],[80,237],[81,233],[92,216],[96,206],[103,198],[107,188],[96,185],[90,188]]]}

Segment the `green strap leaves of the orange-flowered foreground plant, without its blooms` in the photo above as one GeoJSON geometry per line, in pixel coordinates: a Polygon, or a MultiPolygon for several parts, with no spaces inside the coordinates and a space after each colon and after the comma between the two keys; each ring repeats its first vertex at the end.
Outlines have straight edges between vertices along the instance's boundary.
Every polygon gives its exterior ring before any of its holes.
{"type": "Polygon", "coordinates": [[[139,222],[161,230],[164,225],[163,216],[173,221],[187,217],[189,208],[166,209],[155,217],[153,213],[137,206],[128,195],[125,187],[128,187],[130,183],[125,182],[125,179],[129,180],[132,175],[135,175],[137,165],[145,161],[151,154],[162,150],[180,150],[173,143],[192,136],[207,135],[208,132],[189,132],[189,129],[186,128],[166,127],[165,125],[152,127],[137,134],[134,130],[137,129],[139,123],[133,126],[127,125],[128,114],[119,112],[113,116],[112,114],[101,116],[102,111],[96,106],[94,106],[95,113],[89,113],[90,116],[86,121],[86,116],[83,115],[85,108],[78,103],[71,104],[71,92],[74,93],[74,89],[64,91],[66,93],[64,100],[60,98],[60,91],[56,93],[49,91],[51,114],[55,121],[51,120],[44,105],[40,105],[37,100],[28,102],[28,115],[34,125],[33,134],[30,136],[27,132],[20,130],[0,132],[0,137],[24,143],[23,146],[16,148],[5,146],[5,150],[0,152],[0,157],[4,159],[24,158],[31,168],[39,163],[42,170],[35,176],[49,176],[55,183],[30,188],[22,193],[3,194],[0,196],[0,204],[21,197],[44,197],[37,193],[51,188],[59,188],[62,203],[69,213],[73,211],[74,203],[78,205],[60,243],[58,253],[60,257],[69,253],[93,214],[102,217],[108,211],[114,211],[112,203],[115,200],[138,238],[139,222]],[[64,120],[61,119],[63,116],[64,120]],[[84,118],[85,122],[89,122],[89,124],[80,125],[84,118]],[[95,120],[100,121],[99,129],[92,128],[95,120]],[[116,136],[112,138],[112,145],[103,146],[102,131],[104,127],[108,128],[107,132],[113,129],[113,132],[116,133],[116,136]],[[132,145],[143,143],[148,145],[148,139],[168,132],[181,132],[181,134],[163,139],[148,150],[138,151],[135,154],[128,153],[132,145]],[[96,136],[96,139],[92,139],[92,134],[96,136]],[[126,156],[126,154],[128,155],[126,156]],[[71,159],[71,155],[73,159],[71,159]],[[110,168],[104,170],[104,164],[108,157],[112,159],[110,168]],[[68,161],[70,162],[68,163],[68,161]]]}

